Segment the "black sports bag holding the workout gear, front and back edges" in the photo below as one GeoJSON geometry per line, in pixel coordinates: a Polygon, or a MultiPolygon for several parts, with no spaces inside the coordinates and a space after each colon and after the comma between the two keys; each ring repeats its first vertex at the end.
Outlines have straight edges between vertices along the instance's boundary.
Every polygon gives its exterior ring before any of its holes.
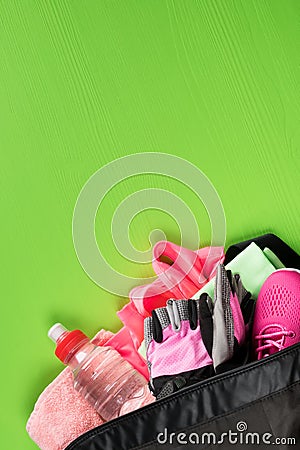
{"type": "MultiPolygon", "coordinates": [[[[252,241],[299,269],[299,255],[276,236],[252,241]]],[[[230,260],[250,242],[230,247],[226,257],[230,260]]],[[[101,425],[66,450],[246,450],[270,445],[300,449],[300,343],[101,425]]]]}

